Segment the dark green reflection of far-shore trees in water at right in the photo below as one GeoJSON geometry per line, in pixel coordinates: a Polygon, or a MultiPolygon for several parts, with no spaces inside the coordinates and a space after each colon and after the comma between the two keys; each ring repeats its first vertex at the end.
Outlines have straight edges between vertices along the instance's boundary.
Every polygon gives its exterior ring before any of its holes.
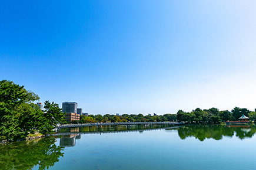
{"type": "Polygon", "coordinates": [[[240,140],[251,138],[255,132],[255,125],[188,125],[177,128],[178,135],[182,140],[187,137],[195,137],[200,141],[205,139],[221,140],[222,137],[233,137],[240,140]]]}

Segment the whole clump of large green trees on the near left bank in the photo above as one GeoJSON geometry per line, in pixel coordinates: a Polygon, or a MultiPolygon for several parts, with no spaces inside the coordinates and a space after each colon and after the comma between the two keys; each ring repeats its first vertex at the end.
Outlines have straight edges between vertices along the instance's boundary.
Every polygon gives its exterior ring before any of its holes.
{"type": "Polygon", "coordinates": [[[12,81],[0,81],[0,141],[17,140],[35,131],[52,133],[58,123],[64,122],[58,104],[45,101],[44,110],[33,102],[37,94],[12,81]]]}

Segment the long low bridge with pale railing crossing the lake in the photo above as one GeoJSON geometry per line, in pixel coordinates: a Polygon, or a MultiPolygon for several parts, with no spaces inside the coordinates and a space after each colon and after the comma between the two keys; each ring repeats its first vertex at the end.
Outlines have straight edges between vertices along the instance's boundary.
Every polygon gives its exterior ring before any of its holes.
{"type": "Polygon", "coordinates": [[[88,124],[64,124],[59,125],[57,128],[71,128],[71,127],[91,127],[101,125],[142,125],[142,124],[169,124],[169,125],[183,125],[179,122],[122,122],[122,123],[88,123],[88,124]]]}

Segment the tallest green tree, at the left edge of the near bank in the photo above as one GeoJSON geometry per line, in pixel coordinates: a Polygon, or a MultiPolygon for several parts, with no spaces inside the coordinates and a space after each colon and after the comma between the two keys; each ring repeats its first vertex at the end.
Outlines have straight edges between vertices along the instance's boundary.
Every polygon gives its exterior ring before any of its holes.
{"type": "Polygon", "coordinates": [[[29,130],[22,129],[24,114],[19,110],[31,114],[34,111],[31,103],[35,100],[39,97],[25,90],[24,86],[8,80],[0,81],[0,140],[21,138],[28,134],[29,130]]]}

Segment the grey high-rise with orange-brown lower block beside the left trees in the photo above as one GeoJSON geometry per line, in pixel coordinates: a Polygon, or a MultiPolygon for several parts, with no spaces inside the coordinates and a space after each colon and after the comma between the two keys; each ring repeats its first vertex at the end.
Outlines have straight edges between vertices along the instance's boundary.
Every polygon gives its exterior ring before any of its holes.
{"type": "Polygon", "coordinates": [[[77,103],[65,101],[62,103],[62,112],[65,112],[65,120],[68,122],[79,121],[80,115],[77,114],[77,103]]]}

